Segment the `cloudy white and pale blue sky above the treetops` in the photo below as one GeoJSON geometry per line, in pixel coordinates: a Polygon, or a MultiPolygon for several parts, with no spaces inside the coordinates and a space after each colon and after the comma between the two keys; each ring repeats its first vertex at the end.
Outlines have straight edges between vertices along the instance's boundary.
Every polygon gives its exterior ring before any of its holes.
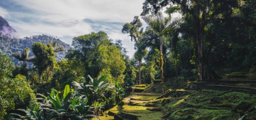
{"type": "MultiPolygon", "coordinates": [[[[0,16],[16,31],[16,37],[45,34],[71,45],[75,36],[106,32],[122,40],[133,56],[134,42],[122,33],[125,23],[142,12],[144,0],[1,0],[0,16]]],[[[146,24],[143,22],[143,26],[146,24]]]]}

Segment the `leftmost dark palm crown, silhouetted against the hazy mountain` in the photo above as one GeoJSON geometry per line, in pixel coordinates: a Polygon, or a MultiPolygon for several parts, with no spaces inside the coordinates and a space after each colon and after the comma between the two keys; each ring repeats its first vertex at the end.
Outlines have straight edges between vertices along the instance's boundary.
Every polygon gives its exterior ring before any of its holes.
{"type": "Polygon", "coordinates": [[[30,54],[30,48],[27,47],[22,51],[21,54],[18,52],[15,52],[12,54],[12,56],[20,61],[23,61],[23,67],[27,68],[27,62],[32,62],[35,59],[34,56],[29,57],[29,54],[30,54]]]}

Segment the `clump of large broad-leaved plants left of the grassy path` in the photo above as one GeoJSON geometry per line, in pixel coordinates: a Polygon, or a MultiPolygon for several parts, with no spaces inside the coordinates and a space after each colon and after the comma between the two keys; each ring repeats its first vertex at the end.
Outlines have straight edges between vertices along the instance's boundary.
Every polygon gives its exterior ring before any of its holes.
{"type": "Polygon", "coordinates": [[[90,114],[92,107],[88,106],[88,98],[84,96],[75,96],[73,89],[69,85],[65,86],[63,92],[52,89],[48,97],[41,96],[38,100],[41,103],[34,105],[33,109],[18,109],[26,113],[25,116],[12,113],[14,117],[29,120],[89,120],[97,116],[90,114]],[[62,93],[62,96],[60,94],[62,93]]]}

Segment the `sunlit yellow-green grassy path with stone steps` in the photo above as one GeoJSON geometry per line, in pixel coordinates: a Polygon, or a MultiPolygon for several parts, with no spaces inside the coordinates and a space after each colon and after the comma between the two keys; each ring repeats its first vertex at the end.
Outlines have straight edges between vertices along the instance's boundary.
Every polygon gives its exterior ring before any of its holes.
{"type": "Polygon", "coordinates": [[[99,118],[100,120],[162,120],[163,114],[158,104],[150,102],[160,95],[159,93],[132,93],[99,118]]]}

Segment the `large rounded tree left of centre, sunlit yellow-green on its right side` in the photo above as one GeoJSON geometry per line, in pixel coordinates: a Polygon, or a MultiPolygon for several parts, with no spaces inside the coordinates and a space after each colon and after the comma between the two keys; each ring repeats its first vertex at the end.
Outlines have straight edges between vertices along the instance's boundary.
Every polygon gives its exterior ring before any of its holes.
{"type": "Polygon", "coordinates": [[[126,66],[122,49],[116,46],[103,31],[74,37],[74,49],[68,50],[66,58],[75,59],[83,63],[85,74],[92,77],[108,75],[112,83],[123,83],[126,66]]]}

